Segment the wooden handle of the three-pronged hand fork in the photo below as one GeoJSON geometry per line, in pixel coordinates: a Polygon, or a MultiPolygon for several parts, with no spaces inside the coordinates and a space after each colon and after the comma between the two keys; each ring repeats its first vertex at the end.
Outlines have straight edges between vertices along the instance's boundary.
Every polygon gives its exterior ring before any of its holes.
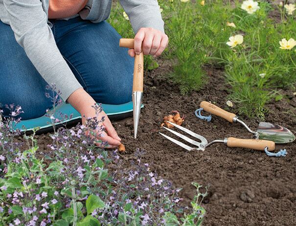
{"type": "Polygon", "coordinates": [[[275,149],[275,143],[271,140],[238,139],[234,137],[228,138],[227,146],[233,148],[250,148],[259,151],[264,151],[265,147],[268,147],[269,151],[274,151],[275,149]]]}

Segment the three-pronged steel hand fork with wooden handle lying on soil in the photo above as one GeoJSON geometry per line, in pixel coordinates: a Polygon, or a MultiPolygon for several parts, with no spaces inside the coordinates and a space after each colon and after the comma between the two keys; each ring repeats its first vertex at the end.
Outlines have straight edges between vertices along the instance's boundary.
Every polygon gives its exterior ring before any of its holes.
{"type": "Polygon", "coordinates": [[[238,138],[234,138],[234,137],[228,137],[228,138],[224,138],[224,140],[222,139],[217,139],[217,140],[213,140],[210,143],[207,142],[207,140],[205,139],[204,136],[198,135],[182,126],[179,126],[173,122],[169,122],[171,125],[175,126],[176,128],[182,130],[183,132],[198,138],[200,140],[200,142],[195,141],[187,136],[184,136],[174,130],[171,130],[169,128],[163,127],[164,129],[166,129],[167,131],[171,132],[172,134],[179,136],[180,138],[182,138],[183,140],[186,140],[188,143],[191,143],[196,147],[190,147],[184,143],[182,143],[179,140],[176,140],[170,136],[166,136],[162,133],[159,133],[160,135],[164,136],[165,138],[167,138],[168,140],[174,142],[175,144],[178,144],[179,146],[181,146],[182,148],[188,150],[188,151],[193,151],[193,150],[202,150],[205,151],[205,148],[207,148],[208,146],[214,144],[214,143],[224,143],[226,144],[228,147],[237,147],[237,148],[250,148],[253,150],[262,150],[264,151],[264,149],[267,147],[269,151],[273,151],[275,149],[275,143],[271,140],[259,140],[259,139],[238,139],[238,138]]]}

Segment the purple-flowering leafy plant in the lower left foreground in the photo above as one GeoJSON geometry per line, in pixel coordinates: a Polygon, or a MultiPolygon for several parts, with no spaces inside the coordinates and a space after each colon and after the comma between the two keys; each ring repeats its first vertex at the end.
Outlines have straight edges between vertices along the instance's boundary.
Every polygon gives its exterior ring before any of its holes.
{"type": "MultiPolygon", "coordinates": [[[[53,103],[58,105],[59,101],[53,103]]],[[[189,226],[202,222],[205,210],[200,198],[206,194],[198,191],[192,213],[187,214],[191,209],[179,204],[181,189],[173,188],[149,164],[142,163],[142,151],[136,151],[126,168],[117,150],[107,152],[96,145],[94,133],[103,130],[97,125],[104,118],[87,118],[86,125],[70,129],[54,128],[49,150],[42,155],[37,129],[30,136],[23,135],[24,142],[17,142],[20,131],[13,127],[22,109],[6,107],[11,114],[0,122],[0,225],[189,226]]],[[[100,105],[93,108],[97,113],[102,111],[100,105]]],[[[47,113],[55,124],[56,114],[47,113]]]]}

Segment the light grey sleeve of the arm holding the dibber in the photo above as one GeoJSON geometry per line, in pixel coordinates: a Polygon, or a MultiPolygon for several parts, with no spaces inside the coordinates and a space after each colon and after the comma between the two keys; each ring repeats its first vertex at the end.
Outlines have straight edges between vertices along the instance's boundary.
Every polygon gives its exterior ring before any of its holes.
{"type": "Polygon", "coordinates": [[[152,27],[164,32],[157,0],[120,0],[120,3],[129,16],[135,33],[141,27],[152,27]]]}

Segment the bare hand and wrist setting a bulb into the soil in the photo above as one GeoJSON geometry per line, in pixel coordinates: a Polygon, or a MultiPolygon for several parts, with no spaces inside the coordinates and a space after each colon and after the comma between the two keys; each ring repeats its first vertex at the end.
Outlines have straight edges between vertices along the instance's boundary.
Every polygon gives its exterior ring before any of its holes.
{"type": "MultiPolygon", "coordinates": [[[[117,135],[116,131],[114,130],[114,127],[111,124],[111,121],[109,120],[107,114],[105,112],[98,113],[96,115],[95,109],[91,106],[94,106],[95,101],[91,97],[90,94],[88,94],[85,90],[82,88],[75,90],[67,99],[68,103],[70,103],[82,116],[85,115],[85,117],[82,117],[82,124],[86,124],[86,119],[88,117],[97,117],[98,121],[102,119],[102,117],[105,117],[104,122],[101,122],[98,126],[103,126],[105,128],[105,131],[95,132],[96,139],[102,140],[104,142],[108,142],[107,146],[104,146],[105,148],[116,148],[120,144],[120,138],[117,135]]],[[[100,143],[96,143],[96,145],[100,146],[100,143]]]]}

